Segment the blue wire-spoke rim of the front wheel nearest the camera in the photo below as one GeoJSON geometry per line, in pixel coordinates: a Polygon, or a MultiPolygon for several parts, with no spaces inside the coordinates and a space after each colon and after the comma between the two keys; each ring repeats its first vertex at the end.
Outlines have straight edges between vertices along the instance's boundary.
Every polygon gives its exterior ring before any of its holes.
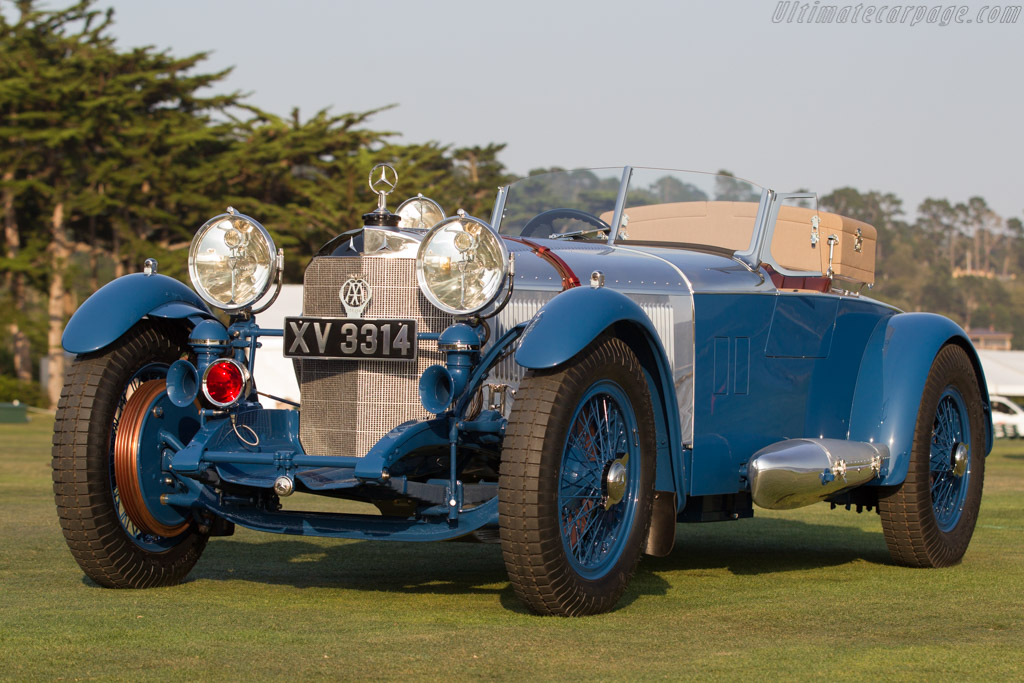
{"type": "Polygon", "coordinates": [[[558,526],[569,564],[585,579],[615,566],[633,528],[640,489],[636,426],[626,392],[609,380],[584,393],[569,421],[558,472],[558,526]],[[615,462],[625,465],[625,492],[606,507],[605,476],[615,462]]]}

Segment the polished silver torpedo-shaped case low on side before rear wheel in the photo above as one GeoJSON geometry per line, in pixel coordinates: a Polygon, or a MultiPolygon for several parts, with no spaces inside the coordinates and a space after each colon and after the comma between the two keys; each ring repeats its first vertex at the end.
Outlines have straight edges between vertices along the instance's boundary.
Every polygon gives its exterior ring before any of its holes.
{"type": "Polygon", "coordinates": [[[838,438],[794,438],[761,449],[746,465],[751,497],[762,508],[820,503],[881,476],[889,449],[838,438]]]}

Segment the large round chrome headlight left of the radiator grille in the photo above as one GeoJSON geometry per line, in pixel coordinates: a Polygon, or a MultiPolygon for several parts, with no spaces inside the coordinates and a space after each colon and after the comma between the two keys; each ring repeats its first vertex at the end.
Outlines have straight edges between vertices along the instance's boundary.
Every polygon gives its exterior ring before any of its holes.
{"type": "Polygon", "coordinates": [[[203,223],[188,249],[193,287],[207,303],[227,311],[250,306],[263,296],[276,265],[270,233],[230,207],[203,223]]]}

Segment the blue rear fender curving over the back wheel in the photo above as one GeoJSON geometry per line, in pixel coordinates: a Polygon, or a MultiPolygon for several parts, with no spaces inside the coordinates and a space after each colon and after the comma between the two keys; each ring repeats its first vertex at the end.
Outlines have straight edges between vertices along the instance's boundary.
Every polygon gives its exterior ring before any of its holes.
{"type": "Polygon", "coordinates": [[[850,439],[889,447],[888,474],[880,485],[906,478],[921,394],[939,350],[957,344],[978,376],[985,415],[985,455],[992,450],[992,416],[981,361],[964,331],[934,313],[900,313],[883,319],[864,349],[850,412],[850,439]]]}

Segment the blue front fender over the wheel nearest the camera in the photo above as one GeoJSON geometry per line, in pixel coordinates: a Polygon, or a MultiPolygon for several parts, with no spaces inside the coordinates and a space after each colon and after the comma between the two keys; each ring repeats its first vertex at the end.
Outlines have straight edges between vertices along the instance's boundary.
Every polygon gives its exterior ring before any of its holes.
{"type": "Polygon", "coordinates": [[[685,467],[672,365],[654,325],[639,305],[614,290],[566,290],[545,304],[527,325],[515,360],[529,370],[552,370],[570,360],[606,331],[623,339],[643,368],[657,429],[655,487],[674,490],[682,509],[686,501],[685,467]]]}

